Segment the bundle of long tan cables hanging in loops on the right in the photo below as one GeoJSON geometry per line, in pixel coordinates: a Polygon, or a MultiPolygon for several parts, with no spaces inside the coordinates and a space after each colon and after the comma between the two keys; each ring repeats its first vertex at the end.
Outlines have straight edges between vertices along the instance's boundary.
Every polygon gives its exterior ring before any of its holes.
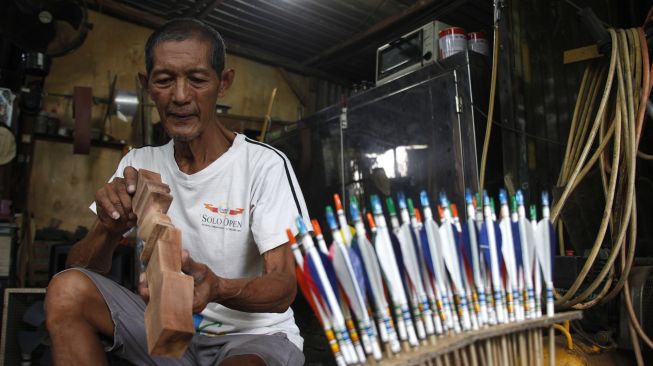
{"type": "MultiPolygon", "coordinates": [[[[647,16],[647,22],[653,21],[652,17],[653,8],[647,16]]],[[[637,157],[653,159],[653,156],[639,151],[646,101],[653,86],[653,65],[650,64],[646,35],[642,28],[609,29],[608,32],[612,47],[607,74],[605,60],[591,62],[583,73],[563,165],[558,176],[557,183],[563,192],[551,210],[551,218],[559,230],[561,254],[564,255],[564,224],[560,213],[571,193],[596,167],[597,162],[605,205],[587,260],[571,287],[562,295],[556,294],[556,306],[562,309],[586,309],[610,301],[623,290],[633,342],[638,342],[636,338],[639,337],[653,348],[653,341],[644,333],[635,315],[628,285],[636,249],[636,160],[637,157]],[[595,111],[599,94],[601,98],[595,111]],[[591,156],[590,151],[593,151],[591,156]],[[586,284],[608,229],[611,233],[609,241],[612,243],[610,254],[598,275],[586,284]],[[617,256],[620,261],[615,263],[617,256]],[[620,271],[615,275],[617,265],[620,271]],[[581,286],[583,291],[577,294],[581,286]],[[595,291],[599,286],[601,290],[597,294],[595,291]]],[[[635,348],[635,353],[638,363],[641,363],[639,347],[635,348]]]]}

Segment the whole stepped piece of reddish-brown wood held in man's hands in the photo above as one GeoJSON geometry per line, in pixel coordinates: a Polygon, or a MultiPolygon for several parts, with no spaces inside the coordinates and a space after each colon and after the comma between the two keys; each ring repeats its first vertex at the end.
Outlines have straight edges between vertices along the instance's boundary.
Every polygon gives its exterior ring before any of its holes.
{"type": "Polygon", "coordinates": [[[166,215],[172,203],[170,187],[158,173],[140,169],[132,203],[138,237],[145,243],[141,262],[147,265],[150,293],[145,308],[148,352],[180,358],[195,333],[194,281],[181,272],[181,231],[166,215]]]}

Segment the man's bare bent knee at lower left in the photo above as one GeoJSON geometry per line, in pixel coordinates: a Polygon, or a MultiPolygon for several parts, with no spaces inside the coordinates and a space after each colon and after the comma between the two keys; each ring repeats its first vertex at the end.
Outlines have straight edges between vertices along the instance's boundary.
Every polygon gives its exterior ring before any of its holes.
{"type": "Polygon", "coordinates": [[[100,301],[97,287],[88,276],[77,270],[58,274],[48,284],[45,295],[45,320],[48,329],[64,319],[83,316],[84,307],[100,301]]]}

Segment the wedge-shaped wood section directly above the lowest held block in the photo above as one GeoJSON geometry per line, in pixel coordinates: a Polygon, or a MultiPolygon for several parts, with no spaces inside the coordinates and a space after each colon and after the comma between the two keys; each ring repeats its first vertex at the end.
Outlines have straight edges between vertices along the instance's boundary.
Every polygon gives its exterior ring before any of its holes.
{"type": "Polygon", "coordinates": [[[146,269],[148,283],[162,272],[181,272],[181,232],[169,228],[165,234],[153,246],[146,269]]]}

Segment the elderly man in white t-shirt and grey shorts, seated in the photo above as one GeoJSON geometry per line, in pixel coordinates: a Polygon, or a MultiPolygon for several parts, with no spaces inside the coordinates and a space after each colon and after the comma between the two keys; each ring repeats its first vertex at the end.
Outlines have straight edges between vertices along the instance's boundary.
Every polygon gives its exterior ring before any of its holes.
{"type": "MultiPolygon", "coordinates": [[[[300,365],[302,338],[289,308],[296,294],[285,229],[304,198],[287,158],[235,134],[215,112],[234,71],[220,35],[192,19],[155,31],[140,81],[172,140],[130,151],[91,209],[97,220],[52,279],[46,320],[57,365],[106,364],[105,352],[137,365],[300,365]],[[182,232],[183,271],[195,279],[196,334],[180,360],[148,355],[141,297],[104,277],[135,226],[137,169],[161,174],[168,211],[182,232]]],[[[147,301],[147,279],[139,293],[147,301]]]]}

